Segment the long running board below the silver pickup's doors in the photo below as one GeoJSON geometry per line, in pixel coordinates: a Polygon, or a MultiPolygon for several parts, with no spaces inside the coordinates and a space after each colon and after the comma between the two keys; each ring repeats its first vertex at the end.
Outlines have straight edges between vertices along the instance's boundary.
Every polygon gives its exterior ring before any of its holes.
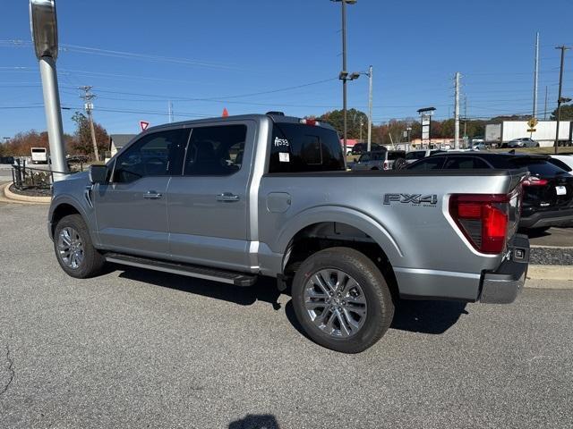
{"type": "Polygon", "coordinates": [[[257,276],[233,271],[218,270],[201,265],[178,264],[174,262],[158,261],[148,257],[132,257],[120,255],[118,253],[107,253],[106,261],[114,264],[136,266],[149,270],[161,271],[163,273],[173,273],[195,277],[197,279],[211,280],[234,284],[235,286],[252,286],[257,281],[257,276]]]}

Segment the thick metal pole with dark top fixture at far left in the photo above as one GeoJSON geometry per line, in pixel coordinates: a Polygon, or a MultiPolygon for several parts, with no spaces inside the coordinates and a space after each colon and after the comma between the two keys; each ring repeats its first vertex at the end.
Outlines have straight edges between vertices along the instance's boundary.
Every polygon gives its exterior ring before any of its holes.
{"type": "Polygon", "coordinates": [[[57,87],[57,20],[55,0],[30,0],[30,30],[42,79],[47,138],[54,181],[61,181],[68,172],[65,162],[64,129],[57,87]]]}

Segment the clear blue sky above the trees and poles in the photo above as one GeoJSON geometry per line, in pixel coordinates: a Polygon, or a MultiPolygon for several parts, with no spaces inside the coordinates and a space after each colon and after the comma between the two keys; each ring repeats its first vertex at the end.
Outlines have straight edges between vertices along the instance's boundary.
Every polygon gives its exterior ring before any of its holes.
{"type": "MultiPolygon", "coordinates": [[[[0,137],[46,127],[28,1],[5,3],[0,137]]],[[[282,110],[302,116],[341,106],[339,3],[57,0],[56,5],[62,105],[81,109],[77,87],[93,86],[94,117],[109,132],[137,132],[140,120],[167,122],[169,100],[175,120],[219,115],[224,107],[229,114],[282,110]],[[285,88],[290,89],[278,90],[285,88]]],[[[463,75],[469,117],[531,113],[535,31],[541,35],[539,111],[545,86],[552,110],[560,62],[554,46],[573,46],[571,0],[358,0],[347,11],[348,70],[373,65],[375,123],[415,116],[428,105],[437,108],[438,119],[451,116],[455,71],[463,75]]],[[[573,95],[573,51],[566,59],[564,88],[564,95],[573,95]]],[[[350,82],[349,107],[366,111],[367,91],[365,76],[350,82]]],[[[73,132],[73,110],[63,111],[66,132],[73,132]]]]}

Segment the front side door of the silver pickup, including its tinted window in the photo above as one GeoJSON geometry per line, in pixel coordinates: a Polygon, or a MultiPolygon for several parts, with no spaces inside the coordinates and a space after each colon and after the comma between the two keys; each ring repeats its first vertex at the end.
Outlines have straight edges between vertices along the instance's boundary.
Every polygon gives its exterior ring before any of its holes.
{"type": "Polygon", "coordinates": [[[181,175],[190,130],[146,134],[115,160],[110,183],[94,189],[99,240],[105,248],[168,257],[167,184],[181,175]]]}

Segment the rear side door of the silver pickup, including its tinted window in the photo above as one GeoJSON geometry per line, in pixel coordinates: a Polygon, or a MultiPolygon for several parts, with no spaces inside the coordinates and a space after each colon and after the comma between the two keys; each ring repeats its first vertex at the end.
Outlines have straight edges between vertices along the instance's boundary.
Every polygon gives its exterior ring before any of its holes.
{"type": "Polygon", "coordinates": [[[249,266],[247,188],[255,122],[193,127],[184,172],[167,189],[169,248],[176,260],[249,266]]]}

